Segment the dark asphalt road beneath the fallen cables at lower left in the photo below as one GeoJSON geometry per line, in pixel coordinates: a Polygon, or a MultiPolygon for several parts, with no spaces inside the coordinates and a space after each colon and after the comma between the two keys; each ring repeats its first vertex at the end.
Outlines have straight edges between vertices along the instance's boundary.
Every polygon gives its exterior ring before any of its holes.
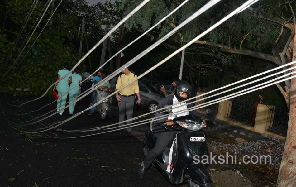
{"type": "MultiPolygon", "coordinates": [[[[0,98],[3,103],[3,97],[0,98]]],[[[28,98],[15,101],[8,98],[9,102],[25,102],[28,98]]],[[[38,109],[52,99],[41,99],[30,105],[26,110],[38,109]]],[[[75,112],[86,108],[88,101],[77,103],[75,112]]],[[[6,108],[6,117],[13,122],[21,122],[30,119],[27,115],[14,115],[21,113],[16,108],[6,108]]],[[[55,107],[54,104],[42,109],[33,116],[40,116],[55,107]]],[[[135,114],[145,113],[136,109],[135,114]]],[[[87,116],[87,112],[74,120],[60,126],[64,130],[84,129],[98,127],[118,122],[117,106],[112,106],[113,117],[101,120],[98,114],[87,116]]],[[[63,121],[69,116],[69,110],[65,110],[63,116],[55,116],[44,122],[63,121]]],[[[42,137],[25,135],[14,132],[1,116],[0,126],[0,186],[172,186],[153,167],[146,173],[145,180],[138,178],[139,164],[143,159],[141,136],[146,126],[133,128],[134,137],[119,135],[118,132],[96,135],[85,138],[69,140],[52,139],[47,137],[73,137],[88,133],[41,133],[42,137]]],[[[41,124],[25,127],[36,129],[41,124]]]]}

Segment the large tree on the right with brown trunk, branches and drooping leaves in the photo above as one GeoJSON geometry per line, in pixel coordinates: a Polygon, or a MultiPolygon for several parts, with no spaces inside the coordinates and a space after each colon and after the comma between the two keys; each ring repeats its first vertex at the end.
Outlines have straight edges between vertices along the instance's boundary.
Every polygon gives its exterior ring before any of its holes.
{"type": "MultiPolygon", "coordinates": [[[[132,2],[139,3],[138,0],[132,2]]],[[[128,31],[133,29],[138,31],[147,30],[151,24],[158,22],[181,2],[178,0],[149,2],[127,21],[125,28],[128,31]]],[[[161,26],[151,32],[151,38],[161,38],[204,4],[205,2],[202,0],[187,2],[179,11],[175,12],[161,26]]],[[[192,40],[193,37],[212,26],[240,4],[241,1],[234,0],[227,3],[217,3],[217,5],[184,26],[166,41],[167,46],[176,48],[175,46],[181,46],[185,42],[192,40]]],[[[229,19],[204,36],[202,40],[195,41],[195,45],[190,47],[195,54],[212,56],[223,62],[224,65],[236,65],[242,62],[241,59],[246,58],[256,58],[260,59],[261,62],[269,62],[270,68],[289,63],[292,60],[293,43],[295,43],[294,5],[294,0],[260,1],[246,11],[229,19]]],[[[130,12],[132,8],[132,6],[129,6],[127,12],[130,12]]],[[[212,65],[218,65],[215,64],[216,62],[213,60],[212,65]]],[[[277,84],[276,86],[282,93],[286,106],[290,108],[291,116],[289,121],[290,130],[288,130],[286,140],[291,144],[289,148],[287,148],[286,144],[282,162],[285,165],[281,166],[278,185],[289,186],[289,184],[292,184],[292,186],[295,186],[295,173],[287,173],[289,169],[296,171],[296,133],[291,130],[295,129],[295,122],[292,120],[295,112],[294,108],[291,108],[294,106],[294,103],[291,103],[291,98],[294,98],[295,92],[290,91],[290,80],[285,81],[284,85],[277,84]]]]}

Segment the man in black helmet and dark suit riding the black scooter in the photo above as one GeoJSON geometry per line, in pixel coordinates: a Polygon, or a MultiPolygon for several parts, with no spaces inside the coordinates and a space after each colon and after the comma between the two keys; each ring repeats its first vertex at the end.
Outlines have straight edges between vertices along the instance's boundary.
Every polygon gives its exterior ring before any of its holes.
{"type": "MultiPolygon", "coordinates": [[[[178,132],[180,132],[174,129],[169,129],[165,131],[165,126],[173,125],[174,124],[173,119],[175,117],[186,116],[189,114],[198,115],[194,110],[193,111],[186,110],[187,108],[193,107],[193,104],[186,105],[186,102],[181,103],[182,101],[190,98],[190,93],[191,93],[191,86],[189,85],[189,83],[186,81],[178,81],[176,84],[174,95],[169,95],[163,98],[159,102],[157,108],[163,108],[165,105],[175,104],[174,106],[172,106],[172,113],[177,113],[182,110],[184,111],[183,113],[179,113],[177,115],[169,115],[168,119],[165,120],[166,125],[164,125],[163,119],[159,119],[155,122],[153,131],[154,131],[154,136],[157,139],[156,139],[155,147],[148,152],[144,161],[141,162],[140,169],[139,169],[139,175],[141,179],[144,179],[145,170],[149,168],[149,166],[151,165],[151,163],[154,161],[155,158],[157,158],[163,153],[163,151],[165,150],[165,147],[169,144],[169,141],[172,139],[172,137],[174,137],[178,132]]],[[[167,108],[164,110],[167,110],[167,108]]],[[[155,113],[155,117],[165,115],[164,110],[161,110],[155,113]]],[[[203,120],[203,123],[206,127],[205,120],[203,120]]]]}

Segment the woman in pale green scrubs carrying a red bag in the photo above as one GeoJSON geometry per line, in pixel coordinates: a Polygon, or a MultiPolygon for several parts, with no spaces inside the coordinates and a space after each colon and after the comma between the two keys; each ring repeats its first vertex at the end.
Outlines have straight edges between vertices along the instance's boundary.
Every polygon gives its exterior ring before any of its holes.
{"type": "MultiPolygon", "coordinates": [[[[67,73],[69,73],[68,70],[68,63],[64,63],[63,69],[59,70],[58,72],[58,79],[60,80],[62,77],[64,77],[67,73]]],[[[69,91],[69,84],[72,82],[72,73],[67,75],[64,79],[61,79],[58,83],[55,84],[54,90],[58,90],[58,103],[57,103],[57,111],[60,111],[60,115],[63,115],[64,110],[60,110],[66,106],[67,96],[69,91]],[[63,95],[63,96],[62,96],[63,95]]]]}

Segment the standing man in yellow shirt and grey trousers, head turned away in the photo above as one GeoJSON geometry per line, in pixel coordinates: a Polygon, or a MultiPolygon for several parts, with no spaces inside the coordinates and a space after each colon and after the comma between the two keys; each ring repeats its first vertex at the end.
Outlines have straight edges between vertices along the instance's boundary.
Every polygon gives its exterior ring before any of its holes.
{"type": "MultiPolygon", "coordinates": [[[[123,86],[127,85],[131,81],[137,78],[137,75],[131,73],[128,68],[122,71],[122,75],[120,75],[117,79],[116,83],[116,90],[122,88],[123,86]]],[[[119,122],[124,121],[124,116],[127,114],[127,119],[131,119],[134,112],[134,103],[135,103],[135,93],[138,96],[137,105],[140,105],[141,98],[140,98],[140,91],[138,81],[128,85],[126,88],[119,91],[119,94],[116,93],[116,99],[118,101],[118,108],[119,108],[119,122]]],[[[127,122],[130,124],[131,121],[127,122]]],[[[124,125],[121,123],[119,125],[124,125]]],[[[127,128],[127,135],[131,136],[131,127],[127,128]]]]}

